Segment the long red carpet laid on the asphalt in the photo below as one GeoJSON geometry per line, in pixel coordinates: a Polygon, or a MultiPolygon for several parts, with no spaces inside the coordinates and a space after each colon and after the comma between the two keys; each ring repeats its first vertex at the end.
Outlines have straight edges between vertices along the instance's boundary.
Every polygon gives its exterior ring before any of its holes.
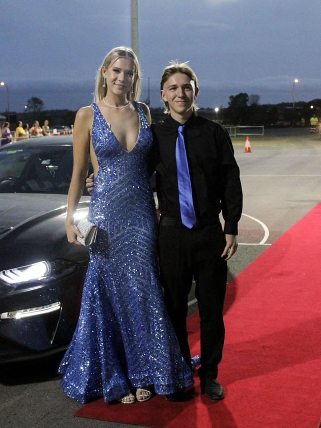
{"type": "MultiPolygon", "coordinates": [[[[317,428],[321,416],[321,204],[228,285],[219,380],[225,398],[97,400],[76,416],[146,427],[317,428]]],[[[198,314],[188,319],[199,353],[198,314]]]]}

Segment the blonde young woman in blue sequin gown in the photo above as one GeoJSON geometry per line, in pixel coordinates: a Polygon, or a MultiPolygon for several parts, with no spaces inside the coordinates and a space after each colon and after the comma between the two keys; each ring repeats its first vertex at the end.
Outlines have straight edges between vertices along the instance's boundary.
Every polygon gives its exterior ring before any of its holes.
{"type": "Polygon", "coordinates": [[[89,248],[78,325],[59,366],[64,374],[61,388],[80,402],[103,396],[106,402],[132,403],[130,390],[137,389],[137,399],[144,401],[151,386],[158,394],[171,394],[193,384],[158,275],[157,219],[147,171],[152,135],[145,113],[150,115],[147,106],[128,101],[131,91],[136,96],[138,84],[134,53],[113,49],[98,72],[100,101],[80,109],[75,121],[68,240],[78,243],[73,214],[87,172],[88,149],[96,176],[89,221],[98,226],[96,242],[89,248]]]}

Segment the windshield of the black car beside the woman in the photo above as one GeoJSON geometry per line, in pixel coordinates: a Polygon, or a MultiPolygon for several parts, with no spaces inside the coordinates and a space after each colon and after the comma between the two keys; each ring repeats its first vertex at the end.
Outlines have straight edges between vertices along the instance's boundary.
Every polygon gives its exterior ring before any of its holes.
{"type": "Polygon", "coordinates": [[[37,146],[0,151],[0,193],[67,195],[73,171],[73,148],[37,146]]]}

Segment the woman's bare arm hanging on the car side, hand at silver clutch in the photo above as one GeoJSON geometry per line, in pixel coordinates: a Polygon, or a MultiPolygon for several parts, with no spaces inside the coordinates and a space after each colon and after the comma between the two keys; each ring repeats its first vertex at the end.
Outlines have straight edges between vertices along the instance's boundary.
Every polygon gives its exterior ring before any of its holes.
{"type": "Polygon", "coordinates": [[[77,235],[81,233],[74,226],[74,214],[82,195],[83,184],[88,170],[88,152],[90,142],[90,127],[92,122],[91,107],[82,107],[76,115],[73,134],[74,167],[68,192],[66,233],[68,241],[81,245],[77,241],[77,235]]]}

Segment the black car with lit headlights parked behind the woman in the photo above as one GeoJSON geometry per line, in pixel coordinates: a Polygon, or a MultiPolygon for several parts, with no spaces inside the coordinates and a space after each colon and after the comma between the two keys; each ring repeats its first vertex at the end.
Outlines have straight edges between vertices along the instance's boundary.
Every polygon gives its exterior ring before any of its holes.
{"type": "Polygon", "coordinates": [[[62,350],[75,330],[88,251],[64,228],[72,167],[72,136],[0,149],[0,363],[62,350]]]}

